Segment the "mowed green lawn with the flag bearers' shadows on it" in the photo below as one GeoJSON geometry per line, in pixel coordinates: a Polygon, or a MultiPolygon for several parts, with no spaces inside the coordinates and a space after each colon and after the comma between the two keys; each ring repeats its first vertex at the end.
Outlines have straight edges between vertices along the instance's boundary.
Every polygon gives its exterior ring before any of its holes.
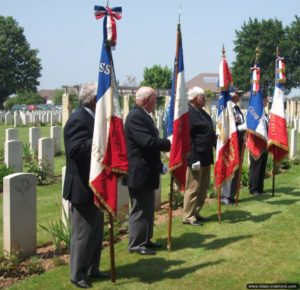
{"type": "MultiPolygon", "coordinates": [[[[59,160],[61,166],[63,161],[59,160]]],[[[93,288],[219,290],[247,289],[247,283],[300,283],[299,176],[300,165],[276,175],[275,197],[271,196],[271,178],[266,179],[267,193],[261,197],[253,197],[247,188],[242,188],[238,207],[222,206],[221,223],[218,223],[216,200],[205,205],[203,215],[210,221],[202,227],[182,225],[181,217],[175,217],[172,252],[166,249],[166,223],[155,227],[154,241],[164,245],[156,256],[129,254],[127,239],[117,243],[116,283],[93,281],[93,288]]],[[[166,176],[163,199],[167,197],[168,183],[166,176]]],[[[60,183],[38,187],[37,195],[38,223],[58,219],[60,183]]],[[[38,243],[41,245],[47,239],[50,237],[38,227],[38,243]]],[[[109,267],[106,248],[101,270],[109,271],[109,267]]],[[[66,265],[21,281],[10,289],[77,288],[69,282],[66,265]]]]}

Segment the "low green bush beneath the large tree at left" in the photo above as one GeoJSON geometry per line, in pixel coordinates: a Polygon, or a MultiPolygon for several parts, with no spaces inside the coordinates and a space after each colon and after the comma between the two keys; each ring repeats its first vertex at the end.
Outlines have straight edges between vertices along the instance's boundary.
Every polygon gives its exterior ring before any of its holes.
{"type": "Polygon", "coordinates": [[[11,109],[13,105],[39,105],[44,104],[45,99],[36,92],[24,91],[17,92],[14,98],[8,98],[5,102],[5,108],[11,109]]]}

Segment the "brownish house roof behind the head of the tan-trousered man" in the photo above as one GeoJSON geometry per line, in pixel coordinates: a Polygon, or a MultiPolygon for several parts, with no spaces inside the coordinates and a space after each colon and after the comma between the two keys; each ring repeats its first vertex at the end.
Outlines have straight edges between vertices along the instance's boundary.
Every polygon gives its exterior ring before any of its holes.
{"type": "Polygon", "coordinates": [[[210,90],[213,93],[219,93],[217,87],[219,75],[217,73],[200,73],[191,80],[186,82],[187,89],[192,87],[201,87],[202,89],[210,90]]]}

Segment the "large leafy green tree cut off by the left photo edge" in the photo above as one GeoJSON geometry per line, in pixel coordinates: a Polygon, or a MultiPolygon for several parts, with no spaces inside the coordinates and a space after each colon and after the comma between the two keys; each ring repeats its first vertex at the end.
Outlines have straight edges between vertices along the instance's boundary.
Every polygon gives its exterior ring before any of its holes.
{"type": "Polygon", "coordinates": [[[16,20],[0,16],[0,108],[17,91],[36,91],[42,69],[37,53],[16,20]]]}

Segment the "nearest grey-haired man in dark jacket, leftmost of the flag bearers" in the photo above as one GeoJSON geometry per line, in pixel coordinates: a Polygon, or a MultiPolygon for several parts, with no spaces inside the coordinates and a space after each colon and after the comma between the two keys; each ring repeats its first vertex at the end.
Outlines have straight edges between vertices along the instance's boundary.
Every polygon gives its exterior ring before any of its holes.
{"type": "Polygon", "coordinates": [[[96,94],[97,84],[82,86],[80,107],[64,128],[66,176],[63,197],[71,202],[71,282],[79,288],[90,288],[89,278],[107,276],[99,271],[103,213],[94,205],[89,187],[96,94]]]}

